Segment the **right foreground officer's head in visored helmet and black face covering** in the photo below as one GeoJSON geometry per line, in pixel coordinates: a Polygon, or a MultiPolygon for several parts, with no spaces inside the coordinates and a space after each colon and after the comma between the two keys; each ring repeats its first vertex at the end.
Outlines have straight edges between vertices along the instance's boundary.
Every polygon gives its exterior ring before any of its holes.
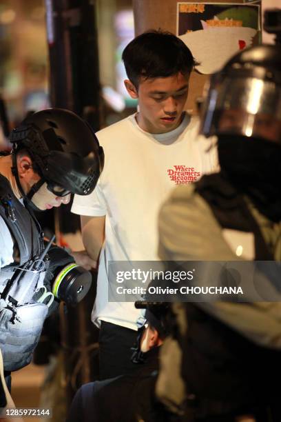
{"type": "Polygon", "coordinates": [[[281,44],[247,48],[215,74],[200,133],[218,139],[223,174],[271,221],[281,221],[281,44]]]}

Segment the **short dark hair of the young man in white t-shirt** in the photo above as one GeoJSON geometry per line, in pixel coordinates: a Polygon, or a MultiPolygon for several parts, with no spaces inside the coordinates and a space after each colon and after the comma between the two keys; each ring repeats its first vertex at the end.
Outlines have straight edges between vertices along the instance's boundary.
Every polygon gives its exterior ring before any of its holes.
{"type": "Polygon", "coordinates": [[[127,77],[138,88],[141,77],[169,77],[189,73],[196,61],[189,48],[176,35],[149,30],[134,38],[122,54],[127,77]]]}

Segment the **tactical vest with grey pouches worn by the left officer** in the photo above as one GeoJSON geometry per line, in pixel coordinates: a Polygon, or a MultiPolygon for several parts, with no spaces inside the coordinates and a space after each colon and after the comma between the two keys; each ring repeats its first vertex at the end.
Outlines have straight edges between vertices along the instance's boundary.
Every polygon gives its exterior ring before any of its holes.
{"type": "Polygon", "coordinates": [[[17,262],[0,270],[0,348],[4,369],[12,371],[30,363],[48,314],[45,303],[33,300],[35,291],[43,286],[47,263],[34,270],[43,251],[39,223],[14,196],[8,179],[1,174],[0,216],[19,255],[17,262]]]}

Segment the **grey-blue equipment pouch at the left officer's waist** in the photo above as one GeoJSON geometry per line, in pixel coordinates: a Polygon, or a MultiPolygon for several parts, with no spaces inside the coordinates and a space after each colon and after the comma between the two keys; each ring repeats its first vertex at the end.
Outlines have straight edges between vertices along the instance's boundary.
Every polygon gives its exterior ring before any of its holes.
{"type": "MultiPolygon", "coordinates": [[[[47,266],[46,263],[45,270],[47,266]]],[[[6,371],[28,365],[39,341],[49,308],[45,303],[34,301],[33,297],[43,288],[45,270],[1,269],[0,348],[6,371]],[[5,280],[9,273],[12,276],[5,280]]]]}

